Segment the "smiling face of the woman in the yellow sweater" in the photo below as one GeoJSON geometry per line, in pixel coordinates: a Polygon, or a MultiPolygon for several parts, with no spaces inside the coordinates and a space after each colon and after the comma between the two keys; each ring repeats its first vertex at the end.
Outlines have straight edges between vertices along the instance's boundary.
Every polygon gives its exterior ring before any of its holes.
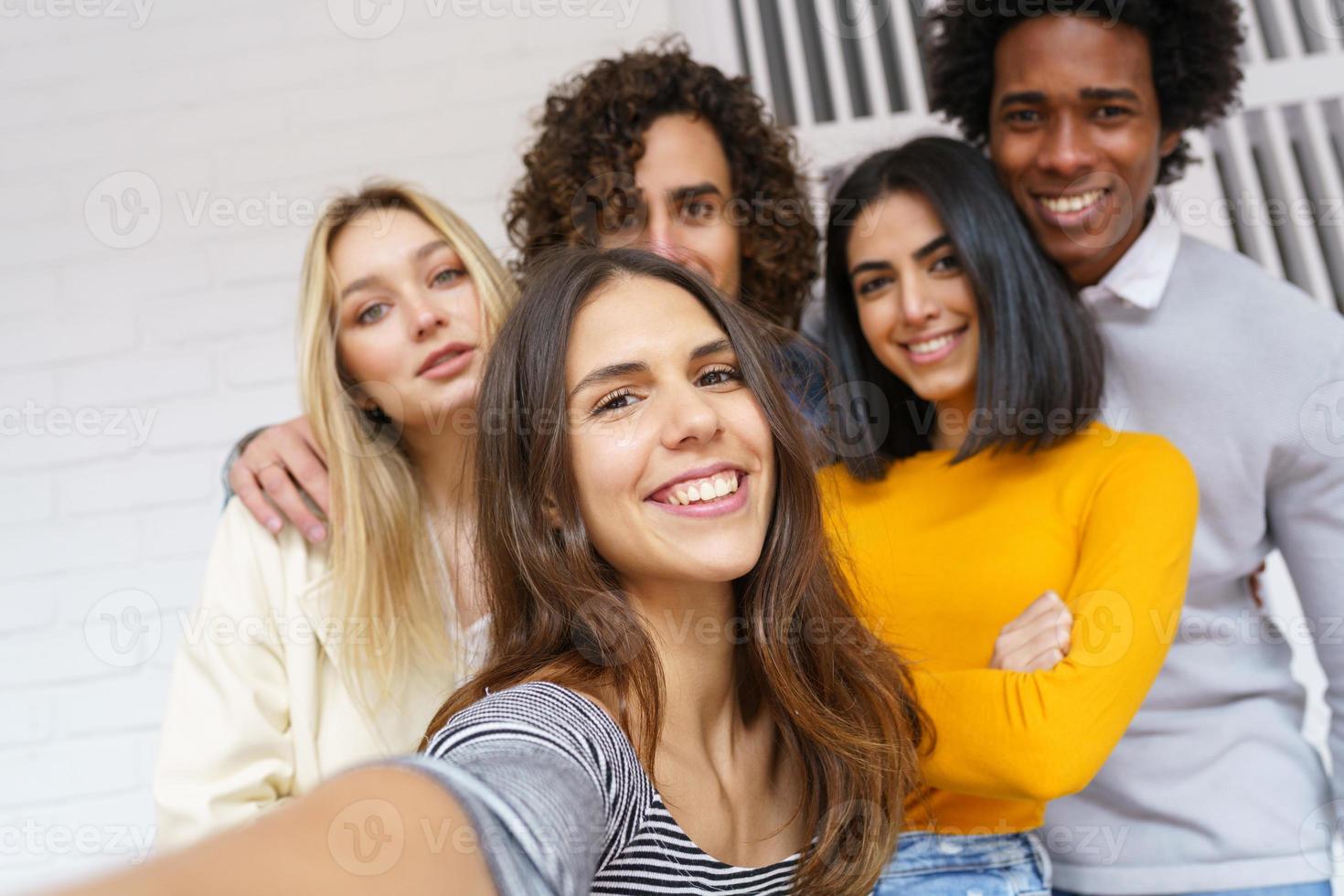
{"type": "Polygon", "coordinates": [[[859,325],[882,365],[929,402],[976,394],[980,316],[942,220],[923,196],[887,193],[849,232],[859,325]]]}

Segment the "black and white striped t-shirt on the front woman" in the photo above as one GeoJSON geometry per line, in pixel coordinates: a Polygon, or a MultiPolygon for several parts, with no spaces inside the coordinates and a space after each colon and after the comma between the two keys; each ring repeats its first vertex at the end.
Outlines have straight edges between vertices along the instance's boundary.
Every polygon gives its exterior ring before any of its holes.
{"type": "Polygon", "coordinates": [[[453,716],[423,755],[464,807],[500,893],[789,893],[798,853],[762,868],[712,858],[681,830],[634,747],[587,697],[544,681],[453,716]]]}

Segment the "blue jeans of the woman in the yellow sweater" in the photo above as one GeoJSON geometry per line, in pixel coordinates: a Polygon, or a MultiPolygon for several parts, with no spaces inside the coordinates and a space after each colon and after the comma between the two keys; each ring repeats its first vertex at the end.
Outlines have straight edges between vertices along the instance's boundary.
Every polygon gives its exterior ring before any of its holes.
{"type": "Polygon", "coordinates": [[[1048,896],[1050,857],[1035,833],[900,834],[874,896],[1048,896]]]}

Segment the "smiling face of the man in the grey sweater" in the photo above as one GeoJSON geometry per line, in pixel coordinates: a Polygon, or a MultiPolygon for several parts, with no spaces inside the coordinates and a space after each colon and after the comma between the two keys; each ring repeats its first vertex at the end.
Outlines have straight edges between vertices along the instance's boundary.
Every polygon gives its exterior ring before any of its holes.
{"type": "Polygon", "coordinates": [[[989,153],[1038,242],[1078,286],[1101,281],[1144,230],[1164,134],[1137,28],[1044,15],[995,51],[989,153]]]}

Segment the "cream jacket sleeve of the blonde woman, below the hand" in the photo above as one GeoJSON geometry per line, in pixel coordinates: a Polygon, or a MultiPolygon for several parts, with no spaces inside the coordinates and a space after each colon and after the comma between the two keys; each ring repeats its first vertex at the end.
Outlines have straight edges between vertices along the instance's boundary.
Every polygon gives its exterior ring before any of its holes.
{"type": "Polygon", "coordinates": [[[224,509],[200,604],[173,660],[153,778],[157,845],[180,846],[255,817],[294,783],[284,645],[281,548],[241,501],[224,509]],[[258,630],[255,638],[222,637],[258,630]]]}

